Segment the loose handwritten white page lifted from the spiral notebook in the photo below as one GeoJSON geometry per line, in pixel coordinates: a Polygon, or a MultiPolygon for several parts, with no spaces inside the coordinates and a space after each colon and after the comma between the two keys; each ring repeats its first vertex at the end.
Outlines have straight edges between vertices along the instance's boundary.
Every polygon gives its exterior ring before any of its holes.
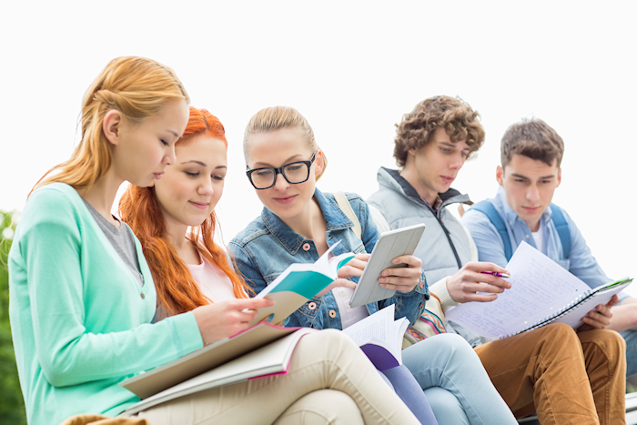
{"type": "Polygon", "coordinates": [[[501,338],[526,329],[590,290],[588,285],[540,251],[522,242],[507,264],[511,289],[491,302],[450,309],[447,319],[483,337],[501,338]]]}

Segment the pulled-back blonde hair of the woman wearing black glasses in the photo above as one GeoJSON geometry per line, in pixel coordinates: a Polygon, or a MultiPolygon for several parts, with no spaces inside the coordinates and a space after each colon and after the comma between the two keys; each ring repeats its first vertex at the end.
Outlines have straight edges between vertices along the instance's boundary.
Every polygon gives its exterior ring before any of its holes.
{"type": "Polygon", "coordinates": [[[248,163],[248,145],[251,135],[268,133],[282,128],[298,128],[303,133],[305,141],[312,152],[319,149],[323,157],[323,170],[320,175],[317,176],[317,180],[319,180],[319,178],[323,176],[323,173],[325,173],[325,168],[328,167],[328,157],[326,157],[322,149],[319,148],[317,140],[314,137],[314,130],[312,130],[308,120],[305,116],[302,116],[298,110],[290,106],[269,106],[261,109],[250,118],[248,126],[246,126],[246,131],[243,134],[243,156],[246,159],[246,163],[248,163]]]}

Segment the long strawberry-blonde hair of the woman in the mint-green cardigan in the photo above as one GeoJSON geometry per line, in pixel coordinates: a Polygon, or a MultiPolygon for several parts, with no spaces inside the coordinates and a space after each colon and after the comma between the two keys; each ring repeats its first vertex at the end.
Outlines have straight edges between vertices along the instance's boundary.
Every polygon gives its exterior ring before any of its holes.
{"type": "Polygon", "coordinates": [[[82,139],[73,155],[49,169],[35,188],[62,182],[76,189],[89,189],[111,167],[110,144],[103,131],[104,117],[116,109],[126,119],[139,122],[154,116],[169,101],[190,98],[175,72],[146,57],[113,59],[86,90],[82,102],[82,139]],[[49,174],[59,170],[53,176],[49,174]]]}

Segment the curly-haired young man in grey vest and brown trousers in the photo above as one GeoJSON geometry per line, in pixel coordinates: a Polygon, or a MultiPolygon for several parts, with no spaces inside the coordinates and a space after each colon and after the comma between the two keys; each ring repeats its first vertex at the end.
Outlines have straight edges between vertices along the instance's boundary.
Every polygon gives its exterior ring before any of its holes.
{"type": "MultiPolygon", "coordinates": [[[[422,260],[430,292],[442,309],[461,302],[489,302],[510,284],[481,270],[475,243],[447,206],[469,197],[450,187],[460,168],[484,142],[479,115],[460,99],[436,96],[403,116],[394,157],[401,167],[381,167],[379,190],[369,197],[380,231],[425,223],[414,255],[422,260]],[[489,295],[487,295],[489,294],[489,295]]],[[[615,332],[576,333],[553,324],[482,343],[450,325],[476,349],[496,389],[517,417],[537,411],[542,424],[622,424],[625,343],[615,332]]]]}

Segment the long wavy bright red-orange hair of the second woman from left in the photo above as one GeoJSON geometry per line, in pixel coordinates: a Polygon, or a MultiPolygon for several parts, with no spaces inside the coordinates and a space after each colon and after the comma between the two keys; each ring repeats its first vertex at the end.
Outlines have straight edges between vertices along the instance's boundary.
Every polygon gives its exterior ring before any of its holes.
{"type": "MultiPolygon", "coordinates": [[[[177,141],[177,146],[202,135],[223,140],[227,146],[225,133],[224,126],[217,116],[213,116],[206,109],[190,107],[188,125],[184,136],[177,141]]],[[[166,224],[159,209],[154,187],[130,185],[119,201],[119,214],[142,244],[144,256],[155,280],[159,306],[166,309],[169,315],[174,315],[211,302],[201,293],[186,263],[167,239],[166,224]]],[[[247,294],[252,290],[230,266],[226,251],[215,244],[216,225],[217,216],[213,210],[203,223],[190,229],[188,239],[202,257],[226,273],[232,281],[237,298],[248,298],[247,294]]]]}

